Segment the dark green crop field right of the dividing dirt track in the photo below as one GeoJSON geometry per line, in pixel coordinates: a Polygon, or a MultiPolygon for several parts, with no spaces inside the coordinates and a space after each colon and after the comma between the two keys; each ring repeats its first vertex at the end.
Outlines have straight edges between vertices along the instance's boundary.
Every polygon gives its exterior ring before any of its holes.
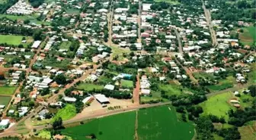
{"type": "Polygon", "coordinates": [[[139,140],[190,140],[194,136],[194,126],[179,121],[173,107],[152,107],[139,110],[138,135],[139,140]]]}

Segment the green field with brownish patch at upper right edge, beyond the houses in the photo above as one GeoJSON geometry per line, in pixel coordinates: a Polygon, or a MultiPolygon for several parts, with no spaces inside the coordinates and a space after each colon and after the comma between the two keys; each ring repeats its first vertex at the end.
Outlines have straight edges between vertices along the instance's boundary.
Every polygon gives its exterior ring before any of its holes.
{"type": "Polygon", "coordinates": [[[239,34],[239,39],[244,45],[252,45],[256,41],[256,27],[248,26],[243,28],[244,33],[239,34]]]}

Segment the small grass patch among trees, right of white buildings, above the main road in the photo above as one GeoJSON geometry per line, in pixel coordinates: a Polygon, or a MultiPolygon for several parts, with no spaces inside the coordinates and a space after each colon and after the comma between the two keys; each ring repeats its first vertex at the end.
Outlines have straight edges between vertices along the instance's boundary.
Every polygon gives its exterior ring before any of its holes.
{"type": "Polygon", "coordinates": [[[158,85],[159,90],[165,91],[166,95],[181,95],[181,88],[178,85],[174,84],[159,84],[158,85]]]}

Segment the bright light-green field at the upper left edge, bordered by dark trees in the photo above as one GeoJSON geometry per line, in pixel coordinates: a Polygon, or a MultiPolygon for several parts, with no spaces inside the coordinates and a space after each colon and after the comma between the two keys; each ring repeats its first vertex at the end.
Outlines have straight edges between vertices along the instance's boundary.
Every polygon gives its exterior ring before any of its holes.
{"type": "Polygon", "coordinates": [[[30,42],[33,42],[32,37],[27,36],[14,36],[14,35],[0,35],[0,43],[6,43],[8,45],[24,45],[26,46],[30,42]],[[27,43],[21,43],[22,38],[25,37],[27,39],[27,43]]]}

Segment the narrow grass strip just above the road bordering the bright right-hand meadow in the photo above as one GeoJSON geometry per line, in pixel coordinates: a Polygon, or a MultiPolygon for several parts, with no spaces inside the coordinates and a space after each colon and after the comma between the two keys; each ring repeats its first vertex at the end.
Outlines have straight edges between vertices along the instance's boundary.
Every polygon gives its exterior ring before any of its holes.
{"type": "Polygon", "coordinates": [[[221,79],[218,84],[206,86],[211,92],[229,89],[234,86],[235,78],[228,76],[226,79],[221,79]]]}

